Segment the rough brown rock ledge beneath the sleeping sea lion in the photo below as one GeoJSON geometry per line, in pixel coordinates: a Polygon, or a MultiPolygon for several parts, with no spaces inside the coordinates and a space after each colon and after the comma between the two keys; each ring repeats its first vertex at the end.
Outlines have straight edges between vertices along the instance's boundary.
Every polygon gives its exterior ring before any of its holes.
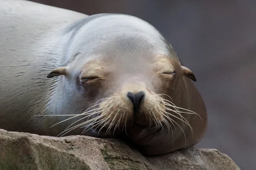
{"type": "Polygon", "coordinates": [[[215,149],[145,157],[118,139],[51,137],[0,130],[0,170],[240,170],[215,149]]]}

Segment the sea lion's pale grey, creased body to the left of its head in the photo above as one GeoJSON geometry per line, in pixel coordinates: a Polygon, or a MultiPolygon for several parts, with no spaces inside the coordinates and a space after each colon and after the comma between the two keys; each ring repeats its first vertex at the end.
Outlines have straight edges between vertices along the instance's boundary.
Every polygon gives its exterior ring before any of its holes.
{"type": "Polygon", "coordinates": [[[49,129],[52,122],[32,116],[52,112],[47,105],[57,96],[49,94],[55,84],[46,75],[66,62],[70,35],[64,34],[65,29],[87,16],[30,1],[0,3],[0,127],[52,136],[61,133],[49,129]]]}

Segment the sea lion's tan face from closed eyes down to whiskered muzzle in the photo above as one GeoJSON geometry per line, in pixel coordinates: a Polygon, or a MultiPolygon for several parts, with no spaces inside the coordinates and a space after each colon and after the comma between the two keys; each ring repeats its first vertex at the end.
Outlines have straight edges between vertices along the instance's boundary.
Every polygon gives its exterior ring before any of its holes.
{"type": "Polygon", "coordinates": [[[101,99],[99,120],[95,122],[107,130],[161,128],[168,122],[164,103],[175,89],[176,68],[167,57],[129,58],[115,62],[94,59],[84,65],[81,89],[101,99]]]}

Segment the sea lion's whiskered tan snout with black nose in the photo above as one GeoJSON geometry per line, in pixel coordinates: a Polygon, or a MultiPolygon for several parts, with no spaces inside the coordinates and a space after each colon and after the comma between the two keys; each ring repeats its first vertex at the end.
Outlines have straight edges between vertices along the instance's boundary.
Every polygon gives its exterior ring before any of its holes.
{"type": "Polygon", "coordinates": [[[145,128],[160,128],[163,124],[163,99],[155,94],[144,82],[131,82],[106,100],[102,101],[102,119],[109,129],[131,129],[138,126],[145,128]]]}

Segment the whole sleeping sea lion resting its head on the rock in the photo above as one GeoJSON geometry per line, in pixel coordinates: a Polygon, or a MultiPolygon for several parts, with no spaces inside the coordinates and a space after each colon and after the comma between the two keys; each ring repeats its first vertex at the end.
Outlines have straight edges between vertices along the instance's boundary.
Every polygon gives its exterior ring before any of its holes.
{"type": "Polygon", "coordinates": [[[207,128],[195,75],[149,23],[0,1],[0,128],[116,137],[157,155],[207,128]]]}

